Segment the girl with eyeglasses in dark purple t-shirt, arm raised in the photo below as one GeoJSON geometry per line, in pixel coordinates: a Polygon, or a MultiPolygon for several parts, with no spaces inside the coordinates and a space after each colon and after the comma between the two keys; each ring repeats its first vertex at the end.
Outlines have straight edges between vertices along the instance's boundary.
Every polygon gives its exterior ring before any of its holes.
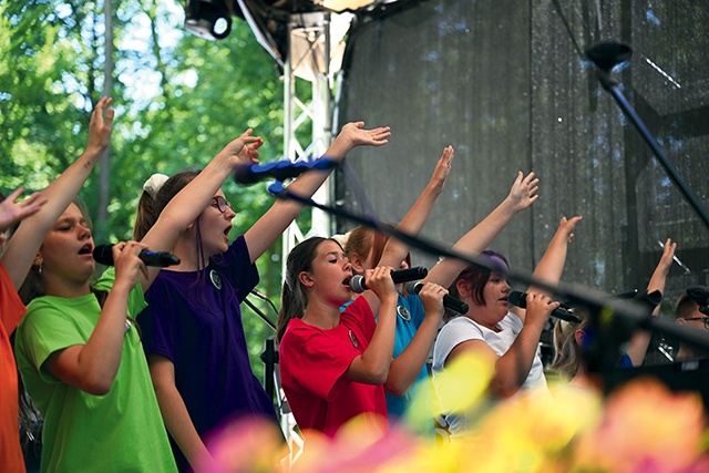
{"type": "MultiPolygon", "coordinates": [[[[356,146],[387,143],[389,127],[363,126],[362,122],[345,125],[326,152],[328,158],[341,161],[356,146]]],[[[138,203],[135,237],[150,228],[173,196],[202,173],[186,171],[162,185],[148,183],[138,203]]],[[[228,175],[225,173],[224,179],[228,175]]],[[[311,196],[328,175],[311,171],[288,188],[311,196]]],[[[258,282],[256,259],[301,208],[299,203],[276,200],[244,235],[232,240],[229,232],[236,214],[222,189],[216,189],[209,205],[185,226],[173,247],[181,264],[163,270],[146,295],[148,307],[138,323],[181,471],[212,461],[205,436],[229,421],[259,418],[278,426],[273,401],[249,364],[239,304],[258,282]]]]}

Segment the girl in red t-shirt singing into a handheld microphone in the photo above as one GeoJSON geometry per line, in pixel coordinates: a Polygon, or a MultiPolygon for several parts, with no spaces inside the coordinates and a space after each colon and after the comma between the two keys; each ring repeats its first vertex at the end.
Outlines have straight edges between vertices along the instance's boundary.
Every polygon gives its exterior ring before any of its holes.
{"type": "MultiPolygon", "coordinates": [[[[397,290],[390,266],[367,270],[368,288],[350,300],[352,267],[342,247],[328,238],[309,238],[290,251],[278,315],[280,377],[301,430],[335,435],[363,414],[386,429],[384,383],[392,360],[397,290]],[[379,320],[374,321],[374,313],[379,320]]],[[[420,295],[443,310],[448,291],[428,285],[420,295]]]]}

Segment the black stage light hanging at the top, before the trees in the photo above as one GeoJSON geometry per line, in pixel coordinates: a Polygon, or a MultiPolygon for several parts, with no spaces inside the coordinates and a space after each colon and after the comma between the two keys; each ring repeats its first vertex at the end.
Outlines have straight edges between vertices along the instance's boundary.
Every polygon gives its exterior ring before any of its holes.
{"type": "Polygon", "coordinates": [[[232,32],[230,0],[186,0],[185,30],[199,38],[223,40],[232,32]]]}

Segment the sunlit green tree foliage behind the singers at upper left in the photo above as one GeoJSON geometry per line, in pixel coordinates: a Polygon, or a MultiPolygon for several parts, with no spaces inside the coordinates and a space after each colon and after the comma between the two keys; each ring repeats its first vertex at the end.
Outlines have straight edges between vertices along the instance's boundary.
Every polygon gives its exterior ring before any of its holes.
{"type": "MultiPolygon", "coordinates": [[[[40,189],[83,151],[92,103],[103,89],[103,2],[31,0],[0,4],[0,189],[40,189]]],[[[142,186],[151,174],[203,167],[247,127],[261,136],[263,161],[284,155],[282,84],[247,23],[209,42],[184,32],[183,3],[114,0],[113,106],[109,219],[95,222],[97,172],[82,191],[97,241],[129,239],[142,186]]],[[[233,236],[273,203],[263,186],[227,183],[233,236]]],[[[258,261],[260,288],[280,292],[279,248],[258,261]],[[274,256],[276,255],[276,256],[274,256]],[[274,260],[276,259],[276,260],[274,260]]],[[[260,307],[260,305],[259,305],[260,307]]],[[[258,354],[270,335],[244,307],[258,354]]],[[[275,320],[273,309],[263,307],[275,320]],[[270,311],[270,312],[269,312],[270,311]]]]}

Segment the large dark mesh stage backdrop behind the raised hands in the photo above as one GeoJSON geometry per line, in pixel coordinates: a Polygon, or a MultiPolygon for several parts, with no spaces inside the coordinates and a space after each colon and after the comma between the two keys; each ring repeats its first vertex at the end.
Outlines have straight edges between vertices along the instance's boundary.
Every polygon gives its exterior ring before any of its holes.
{"type": "MultiPolygon", "coordinates": [[[[564,280],[607,292],[643,289],[661,248],[678,241],[665,312],[709,281],[707,227],[623,116],[586,60],[599,40],[630,44],[614,76],[689,186],[707,205],[709,3],[691,0],[399,2],[350,32],[338,123],[390,125],[382,148],[347,160],[336,196],[397,223],[443,147],[453,173],[422,235],[453,244],[508,193],[517,169],[542,179],[540,199],[492,245],[532,270],[562,216],[583,215],[564,280]],[[398,7],[398,8],[397,8],[398,7]]],[[[352,226],[338,222],[340,233],[352,226]]],[[[435,258],[413,253],[415,264],[435,258]]]]}

